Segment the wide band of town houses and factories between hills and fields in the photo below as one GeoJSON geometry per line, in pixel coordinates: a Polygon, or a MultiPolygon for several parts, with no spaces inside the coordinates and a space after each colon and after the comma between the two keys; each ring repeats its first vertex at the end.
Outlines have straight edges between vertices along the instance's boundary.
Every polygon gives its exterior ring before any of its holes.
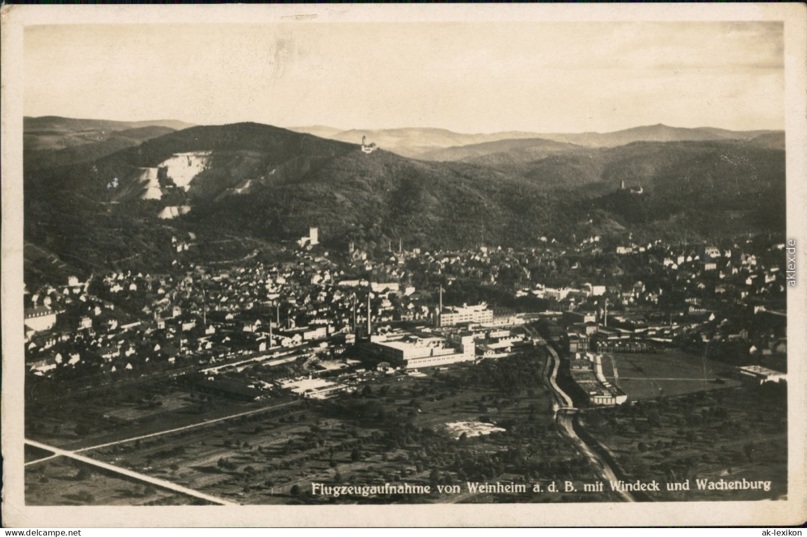
{"type": "Polygon", "coordinates": [[[626,401],[602,373],[608,353],[679,348],[761,382],[786,374],[782,242],[539,237],[529,250],[390,244],[370,255],[353,244],[329,252],[318,233],[290,247],[291,261],[232,266],[189,262],[189,233],[172,239],[170,274],[120,270],[26,288],[27,374],[66,385],[192,374],[233,397],[324,398],[370,382],[367,371],[407,374],[550,344],[585,399],[605,405],[626,401]]]}

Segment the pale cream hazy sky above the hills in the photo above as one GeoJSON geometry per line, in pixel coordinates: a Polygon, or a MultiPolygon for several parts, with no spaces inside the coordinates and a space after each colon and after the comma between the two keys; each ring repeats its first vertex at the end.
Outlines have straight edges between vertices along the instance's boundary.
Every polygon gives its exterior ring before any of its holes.
{"type": "Polygon", "coordinates": [[[24,113],[281,127],[784,128],[780,22],[26,27],[24,113]]]}

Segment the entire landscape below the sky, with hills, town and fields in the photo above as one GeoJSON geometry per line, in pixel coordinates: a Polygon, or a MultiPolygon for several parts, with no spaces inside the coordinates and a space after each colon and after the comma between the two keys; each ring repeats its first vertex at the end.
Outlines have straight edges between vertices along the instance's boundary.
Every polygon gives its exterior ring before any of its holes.
{"type": "Polygon", "coordinates": [[[24,178],[29,504],[786,497],[778,133],[65,124],[24,178]],[[764,463],[675,442],[749,397],[764,463]]]}

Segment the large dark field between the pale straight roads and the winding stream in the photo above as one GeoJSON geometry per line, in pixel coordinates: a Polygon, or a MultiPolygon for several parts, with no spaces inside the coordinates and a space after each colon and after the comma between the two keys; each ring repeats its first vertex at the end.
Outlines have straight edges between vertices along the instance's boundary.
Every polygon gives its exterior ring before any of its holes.
{"type": "MultiPolygon", "coordinates": [[[[249,413],[220,422],[210,422],[208,414],[183,413],[194,405],[169,404],[165,398],[190,399],[190,395],[166,387],[165,393],[157,396],[163,399],[155,397],[156,401],[166,401],[161,405],[165,413],[149,413],[144,420],[149,427],[162,424],[169,430],[180,423],[187,427],[193,417],[196,422],[207,423],[125,441],[123,433],[132,426],[127,424],[112,431],[93,430],[92,438],[77,438],[73,433],[72,438],[62,438],[62,443],[86,448],[115,438],[115,443],[86,449],[82,455],[245,504],[615,500],[609,494],[590,493],[339,498],[310,494],[312,482],[448,485],[470,480],[546,484],[550,480],[596,479],[596,468],[591,468],[579,447],[554,424],[552,400],[540,380],[542,359],[536,352],[477,365],[458,364],[448,371],[424,370],[424,376],[378,375],[361,394],[343,394],[329,401],[299,401],[279,411],[249,413]],[[447,423],[477,421],[504,431],[453,438],[445,430],[447,423]]],[[[207,396],[204,403],[217,409],[217,414],[224,409],[243,412],[257,405],[236,404],[219,396],[207,396]]],[[[119,401],[107,408],[114,405],[131,409],[141,403],[119,401]]],[[[62,415],[65,431],[75,431],[77,423],[84,422],[77,413],[62,415]]],[[[141,431],[133,436],[142,436],[141,431]]],[[[36,501],[48,500],[36,497],[36,501]]]]}

